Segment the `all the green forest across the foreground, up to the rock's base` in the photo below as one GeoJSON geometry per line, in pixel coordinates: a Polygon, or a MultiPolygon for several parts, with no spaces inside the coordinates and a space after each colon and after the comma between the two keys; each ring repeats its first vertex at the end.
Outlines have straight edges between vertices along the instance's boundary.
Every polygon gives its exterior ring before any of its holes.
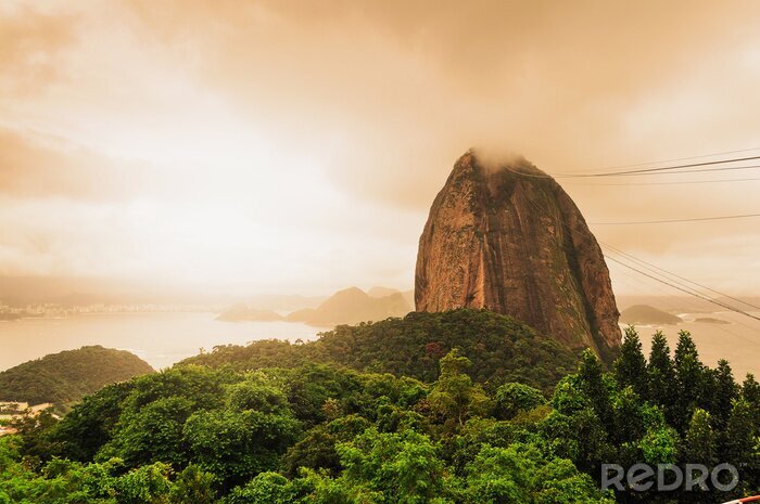
{"type": "Polygon", "coordinates": [[[0,503],[720,503],[760,491],[760,385],[625,332],[601,362],[486,311],[217,347],[0,438],[0,503]],[[730,492],[600,490],[719,462],[730,492]]]}

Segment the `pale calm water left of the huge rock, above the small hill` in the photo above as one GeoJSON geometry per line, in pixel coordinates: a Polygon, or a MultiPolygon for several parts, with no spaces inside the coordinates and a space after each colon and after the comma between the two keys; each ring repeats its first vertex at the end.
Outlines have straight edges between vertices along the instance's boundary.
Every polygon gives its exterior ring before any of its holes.
{"type": "Polygon", "coordinates": [[[316,339],[319,329],[288,322],[219,322],[214,313],[125,313],[0,322],[0,371],[85,345],[129,350],[162,369],[200,348],[257,339],[316,339]]]}

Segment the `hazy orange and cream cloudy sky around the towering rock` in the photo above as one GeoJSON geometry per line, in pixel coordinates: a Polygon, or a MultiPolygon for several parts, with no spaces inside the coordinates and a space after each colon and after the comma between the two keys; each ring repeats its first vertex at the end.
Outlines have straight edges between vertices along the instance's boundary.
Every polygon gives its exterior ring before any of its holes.
{"type": "MultiPolygon", "coordinates": [[[[430,205],[471,146],[557,176],[760,147],[758,16],[751,1],[3,1],[0,279],[411,288],[430,205]]],[[[760,181],[558,180],[603,244],[760,294],[758,219],[598,224],[758,212],[760,181]]],[[[673,294],[610,269],[618,294],[673,294]]]]}

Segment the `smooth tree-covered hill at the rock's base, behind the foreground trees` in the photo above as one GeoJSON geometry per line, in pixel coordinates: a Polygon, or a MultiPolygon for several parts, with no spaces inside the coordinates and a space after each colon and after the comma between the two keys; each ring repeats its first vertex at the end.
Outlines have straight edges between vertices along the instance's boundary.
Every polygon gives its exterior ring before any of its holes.
{"type": "Polygon", "coordinates": [[[472,361],[468,374],[477,383],[497,386],[520,380],[544,390],[574,370],[579,354],[510,316],[459,309],[342,325],[302,345],[265,340],[215,347],[181,364],[243,371],[322,362],[431,383],[438,378],[439,360],[454,348],[472,361]]]}

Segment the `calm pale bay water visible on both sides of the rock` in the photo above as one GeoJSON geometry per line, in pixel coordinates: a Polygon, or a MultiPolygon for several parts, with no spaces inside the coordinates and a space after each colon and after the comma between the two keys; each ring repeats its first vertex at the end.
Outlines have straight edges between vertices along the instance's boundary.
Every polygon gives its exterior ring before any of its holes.
{"type": "MultiPolygon", "coordinates": [[[[737,379],[751,372],[760,376],[760,323],[735,313],[681,314],[686,319],[714,316],[733,322],[714,325],[686,322],[661,328],[671,349],[681,329],[692,332],[702,361],[713,367],[726,359],[737,379]]],[[[37,359],[47,353],[71,350],[84,345],[102,345],[129,350],[162,369],[200,348],[267,338],[312,340],[320,331],[305,324],[287,322],[218,322],[213,313],[136,313],[81,315],[72,319],[27,319],[0,322],[0,370],[37,359]]],[[[644,351],[658,327],[638,327],[644,351]]]]}

